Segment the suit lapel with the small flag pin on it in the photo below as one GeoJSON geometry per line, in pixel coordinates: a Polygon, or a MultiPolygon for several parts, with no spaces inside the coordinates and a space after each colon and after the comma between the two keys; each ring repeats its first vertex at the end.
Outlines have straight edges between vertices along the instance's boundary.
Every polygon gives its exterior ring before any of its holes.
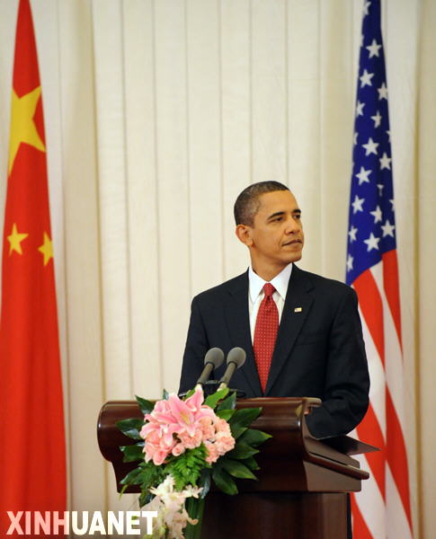
{"type": "Polygon", "coordinates": [[[280,375],[281,368],[289,358],[298,334],[307,319],[307,314],[313,303],[313,297],[309,291],[313,287],[305,272],[298,270],[294,264],[289,278],[289,286],[286,294],[283,313],[281,314],[279,332],[272,355],[270,375],[266,384],[265,395],[280,375]]]}

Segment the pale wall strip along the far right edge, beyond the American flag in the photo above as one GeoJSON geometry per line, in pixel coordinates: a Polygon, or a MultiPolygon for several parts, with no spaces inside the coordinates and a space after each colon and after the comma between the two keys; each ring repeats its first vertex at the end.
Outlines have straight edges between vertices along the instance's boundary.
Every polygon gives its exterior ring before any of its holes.
{"type": "MultiPolygon", "coordinates": [[[[420,402],[419,415],[417,414],[418,447],[421,457],[418,459],[419,479],[421,481],[421,526],[422,537],[432,537],[435,529],[434,508],[436,507],[436,466],[434,466],[434,452],[436,448],[436,424],[433,417],[435,368],[434,350],[436,349],[436,337],[434,331],[436,287],[434,286],[434,268],[436,263],[436,248],[434,243],[436,206],[436,182],[434,171],[436,170],[436,154],[434,151],[434,135],[431,129],[436,125],[436,102],[434,88],[436,87],[436,40],[434,29],[436,28],[436,4],[431,0],[421,5],[419,22],[422,28],[420,34],[420,72],[419,85],[420,100],[418,102],[418,125],[419,135],[417,138],[417,173],[416,181],[416,204],[412,215],[408,217],[406,224],[414,228],[414,241],[418,246],[416,260],[418,296],[414,305],[418,312],[415,314],[418,340],[418,394],[420,402]],[[416,217],[415,225],[411,224],[412,216],[416,217]]],[[[404,245],[404,257],[413,257],[412,252],[407,252],[404,245]]]]}

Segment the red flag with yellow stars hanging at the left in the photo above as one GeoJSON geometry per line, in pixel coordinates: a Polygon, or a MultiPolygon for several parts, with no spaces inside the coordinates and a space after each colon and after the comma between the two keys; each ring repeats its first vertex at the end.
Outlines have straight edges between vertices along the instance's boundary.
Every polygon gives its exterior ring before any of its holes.
{"type": "MultiPolygon", "coordinates": [[[[46,141],[31,6],[20,0],[4,210],[0,536],[38,535],[18,511],[66,508],[66,448],[46,141]],[[12,526],[12,527],[11,527],[12,526]]],[[[52,515],[52,522],[55,519],[52,515]]],[[[50,526],[52,532],[53,527],[50,526]]],[[[63,535],[62,526],[58,528],[63,535]]],[[[44,535],[40,530],[40,534],[44,535]]],[[[55,535],[55,533],[47,534],[55,535]]],[[[46,536],[47,536],[46,535],[46,536]]],[[[58,537],[58,535],[56,535],[58,537]]]]}

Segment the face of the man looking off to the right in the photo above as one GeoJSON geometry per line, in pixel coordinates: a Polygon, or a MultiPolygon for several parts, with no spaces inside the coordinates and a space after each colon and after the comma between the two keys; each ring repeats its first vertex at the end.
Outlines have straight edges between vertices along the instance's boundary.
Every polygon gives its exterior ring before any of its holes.
{"type": "Polygon", "coordinates": [[[260,207],[254,216],[254,225],[247,226],[248,243],[253,268],[280,272],[289,262],[301,259],[304,234],[301,210],[289,190],[264,193],[259,197],[260,207]]]}

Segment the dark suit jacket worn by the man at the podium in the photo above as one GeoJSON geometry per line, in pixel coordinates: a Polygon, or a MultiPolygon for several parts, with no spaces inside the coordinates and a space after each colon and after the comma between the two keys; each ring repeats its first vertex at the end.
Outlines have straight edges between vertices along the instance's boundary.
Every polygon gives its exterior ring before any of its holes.
{"type": "MultiPolygon", "coordinates": [[[[322,407],[307,416],[314,436],[347,433],[363,418],[369,402],[369,373],[357,296],[351,287],[294,264],[265,393],[250,333],[248,272],[194,297],[180,391],[195,385],[208,349],[218,347],[227,354],[236,346],[245,349],[247,357],[231,386],[247,398],[322,399],[322,407]]],[[[217,379],[224,368],[214,373],[217,379]]]]}

